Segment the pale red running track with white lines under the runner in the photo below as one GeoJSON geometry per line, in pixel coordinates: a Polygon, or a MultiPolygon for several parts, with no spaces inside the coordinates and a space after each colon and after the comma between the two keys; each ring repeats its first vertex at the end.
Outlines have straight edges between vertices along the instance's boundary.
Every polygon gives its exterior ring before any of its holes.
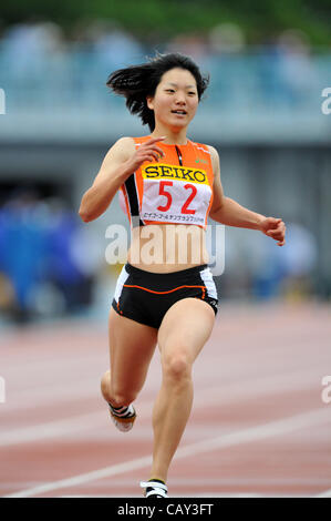
{"type": "MultiPolygon", "coordinates": [[[[158,351],[135,427],[121,433],[99,390],[106,327],[61,321],[2,334],[1,497],[142,496],[158,351]]],[[[322,400],[330,339],[327,305],[221,306],[195,364],[169,496],[331,497],[331,389],[322,400]]]]}

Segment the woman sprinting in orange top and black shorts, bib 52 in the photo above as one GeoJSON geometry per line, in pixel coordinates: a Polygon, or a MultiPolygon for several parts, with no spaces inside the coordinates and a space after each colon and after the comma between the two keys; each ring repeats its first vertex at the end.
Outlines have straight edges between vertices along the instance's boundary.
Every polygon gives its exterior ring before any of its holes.
{"type": "Polygon", "coordinates": [[[177,53],[157,54],[147,63],[113,72],[107,85],[125,96],[131,113],[148,124],[151,134],[121,137],[110,149],[80,207],[81,218],[93,221],[121,188],[132,228],[127,264],[110,310],[111,368],[101,381],[121,431],[133,427],[132,402],[144,385],[156,345],[161,351],[153,464],[151,479],[141,483],[146,498],[167,497],[168,468],[193,403],[193,364],[217,313],[205,245],[207,216],[258,229],[279,246],[285,244],[281,218],[250,212],[226,197],[217,151],[187,139],[207,84],[190,58],[177,53]],[[151,237],[154,262],[146,254],[151,237]]]}

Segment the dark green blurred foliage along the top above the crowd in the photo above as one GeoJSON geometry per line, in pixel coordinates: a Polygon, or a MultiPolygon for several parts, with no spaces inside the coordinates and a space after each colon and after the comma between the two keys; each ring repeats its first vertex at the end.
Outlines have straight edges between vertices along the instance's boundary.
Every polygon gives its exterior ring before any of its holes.
{"type": "Polygon", "coordinates": [[[238,23],[249,43],[299,29],[312,44],[331,43],[331,0],[19,0],[2,2],[2,25],[33,16],[69,32],[80,20],[116,20],[138,38],[162,41],[178,33],[204,34],[220,22],[238,23]]]}

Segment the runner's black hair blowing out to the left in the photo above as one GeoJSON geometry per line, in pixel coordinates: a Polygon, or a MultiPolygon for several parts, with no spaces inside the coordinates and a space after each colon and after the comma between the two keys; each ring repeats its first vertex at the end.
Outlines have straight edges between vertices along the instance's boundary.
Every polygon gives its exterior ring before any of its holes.
{"type": "Polygon", "coordinates": [[[156,53],[147,63],[118,69],[112,72],[106,84],[116,94],[126,99],[130,112],[137,114],[143,125],[148,124],[153,132],[155,129],[154,111],[148,109],[146,98],[154,96],[163,74],[174,68],[185,69],[194,75],[200,101],[208,86],[209,75],[203,76],[196,63],[189,57],[179,53],[156,53]]]}

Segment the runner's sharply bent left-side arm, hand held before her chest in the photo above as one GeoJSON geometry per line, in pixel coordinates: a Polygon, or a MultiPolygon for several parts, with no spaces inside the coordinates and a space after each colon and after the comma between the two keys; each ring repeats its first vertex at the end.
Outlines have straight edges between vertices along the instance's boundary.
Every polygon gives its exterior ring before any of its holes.
{"type": "Polygon", "coordinates": [[[107,210],[117,190],[144,161],[153,161],[157,153],[163,153],[155,145],[161,140],[148,140],[137,151],[132,137],[116,141],[105,155],[93,185],[83,195],[79,214],[84,223],[94,221],[107,210]]]}

